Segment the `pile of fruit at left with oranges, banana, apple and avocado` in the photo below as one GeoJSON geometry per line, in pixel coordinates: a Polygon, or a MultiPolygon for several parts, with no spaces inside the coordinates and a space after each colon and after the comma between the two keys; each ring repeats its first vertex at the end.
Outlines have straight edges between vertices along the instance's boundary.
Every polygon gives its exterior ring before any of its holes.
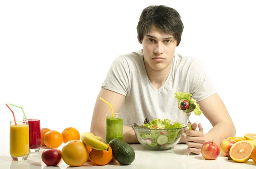
{"type": "Polygon", "coordinates": [[[47,166],[56,166],[62,160],[69,166],[81,166],[87,161],[96,165],[106,165],[111,161],[129,165],[135,159],[134,149],[127,143],[115,138],[106,144],[101,137],[90,132],[81,133],[80,136],[73,127],[64,129],[62,133],[42,128],[41,145],[50,148],[41,155],[47,166]],[[57,149],[62,143],[62,149],[57,149]]]}

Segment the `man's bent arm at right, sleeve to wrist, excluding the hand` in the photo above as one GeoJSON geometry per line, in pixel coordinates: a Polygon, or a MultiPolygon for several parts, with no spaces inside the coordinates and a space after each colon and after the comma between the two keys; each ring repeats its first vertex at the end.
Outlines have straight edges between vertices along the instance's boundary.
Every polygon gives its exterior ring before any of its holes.
{"type": "Polygon", "coordinates": [[[217,93],[198,102],[204,116],[212,124],[213,128],[204,135],[206,141],[214,140],[220,144],[227,137],[236,135],[236,128],[227,109],[217,93]]]}

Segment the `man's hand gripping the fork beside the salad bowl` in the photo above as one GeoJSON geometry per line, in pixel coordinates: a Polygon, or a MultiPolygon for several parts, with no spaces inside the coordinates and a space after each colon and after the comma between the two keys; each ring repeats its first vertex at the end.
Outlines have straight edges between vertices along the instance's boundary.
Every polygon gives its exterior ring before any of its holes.
{"type": "Polygon", "coordinates": [[[188,146],[189,153],[200,154],[201,147],[205,143],[204,132],[201,124],[193,123],[192,130],[186,130],[186,144],[188,146]],[[199,131],[196,129],[198,126],[199,131]]]}

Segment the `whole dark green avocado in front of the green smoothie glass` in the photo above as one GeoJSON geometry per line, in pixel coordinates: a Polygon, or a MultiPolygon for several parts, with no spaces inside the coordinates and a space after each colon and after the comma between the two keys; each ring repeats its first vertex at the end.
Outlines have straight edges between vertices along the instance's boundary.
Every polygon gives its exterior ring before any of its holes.
{"type": "Polygon", "coordinates": [[[114,158],[122,165],[129,165],[135,160],[134,149],[127,143],[114,138],[109,142],[114,158]]]}

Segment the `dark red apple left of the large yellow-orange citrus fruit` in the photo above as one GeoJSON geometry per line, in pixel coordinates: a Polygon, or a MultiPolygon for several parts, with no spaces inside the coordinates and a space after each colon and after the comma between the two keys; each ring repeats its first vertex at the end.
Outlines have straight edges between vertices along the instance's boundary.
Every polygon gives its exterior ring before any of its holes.
{"type": "Polygon", "coordinates": [[[46,149],[42,152],[42,161],[47,166],[56,166],[61,163],[61,150],[59,149],[46,149]]]}

